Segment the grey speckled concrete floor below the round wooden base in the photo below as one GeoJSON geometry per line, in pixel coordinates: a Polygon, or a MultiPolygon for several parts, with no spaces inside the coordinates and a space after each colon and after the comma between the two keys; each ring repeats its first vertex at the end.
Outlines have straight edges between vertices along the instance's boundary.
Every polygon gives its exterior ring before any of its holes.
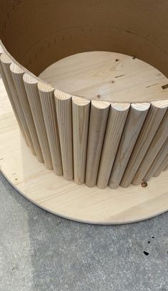
{"type": "Polygon", "coordinates": [[[168,290],[168,213],[132,225],[74,223],[1,174],[0,201],[0,291],[168,290]]]}

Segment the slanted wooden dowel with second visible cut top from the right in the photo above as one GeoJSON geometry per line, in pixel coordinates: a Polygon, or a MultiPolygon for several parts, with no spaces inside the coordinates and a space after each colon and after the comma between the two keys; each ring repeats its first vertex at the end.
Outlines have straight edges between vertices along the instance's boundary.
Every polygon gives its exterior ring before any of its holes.
{"type": "Polygon", "coordinates": [[[149,110],[149,103],[133,103],[129,109],[127,122],[119,143],[117,156],[109,178],[109,187],[116,189],[122,180],[124,170],[132,154],[132,150],[141,131],[144,119],[149,110]]]}

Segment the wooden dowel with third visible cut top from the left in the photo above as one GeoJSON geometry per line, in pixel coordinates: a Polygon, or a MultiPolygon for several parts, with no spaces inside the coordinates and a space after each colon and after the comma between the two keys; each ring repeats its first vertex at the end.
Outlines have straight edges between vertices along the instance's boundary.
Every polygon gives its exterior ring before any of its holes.
{"type": "Polygon", "coordinates": [[[49,150],[49,142],[46,135],[44,116],[41,108],[39,91],[37,88],[38,81],[35,78],[29,76],[29,74],[27,73],[24,73],[23,80],[26,89],[26,94],[29,99],[31,113],[34,118],[36,133],[39,138],[41,152],[44,158],[44,164],[48,170],[52,170],[53,166],[51,161],[51,153],[49,150]]]}

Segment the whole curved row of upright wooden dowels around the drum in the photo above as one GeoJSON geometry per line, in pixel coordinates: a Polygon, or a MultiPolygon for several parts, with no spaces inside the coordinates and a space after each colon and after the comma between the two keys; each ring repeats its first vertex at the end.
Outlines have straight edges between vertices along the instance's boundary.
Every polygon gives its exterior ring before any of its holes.
{"type": "Polygon", "coordinates": [[[168,101],[89,101],[38,81],[1,52],[1,76],[31,153],[66,180],[126,188],[168,166],[168,101]]]}

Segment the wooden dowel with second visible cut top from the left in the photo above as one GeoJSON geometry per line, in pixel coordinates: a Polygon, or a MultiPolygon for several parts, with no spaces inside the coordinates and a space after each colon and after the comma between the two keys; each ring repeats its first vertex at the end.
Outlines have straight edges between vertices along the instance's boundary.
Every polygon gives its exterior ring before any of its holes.
{"type": "Polygon", "coordinates": [[[40,163],[44,163],[43,155],[41,153],[41,147],[39,145],[39,138],[36,134],[36,128],[34,126],[34,119],[33,119],[33,116],[31,114],[29,100],[28,100],[26,90],[24,87],[24,81],[23,81],[24,71],[21,68],[19,68],[19,66],[17,66],[16,63],[11,63],[10,70],[11,70],[11,75],[14,79],[16,91],[17,91],[18,96],[19,96],[21,108],[24,111],[24,116],[26,118],[26,123],[27,123],[27,126],[29,128],[31,141],[33,142],[34,150],[35,150],[37,159],[39,160],[40,163]]]}

